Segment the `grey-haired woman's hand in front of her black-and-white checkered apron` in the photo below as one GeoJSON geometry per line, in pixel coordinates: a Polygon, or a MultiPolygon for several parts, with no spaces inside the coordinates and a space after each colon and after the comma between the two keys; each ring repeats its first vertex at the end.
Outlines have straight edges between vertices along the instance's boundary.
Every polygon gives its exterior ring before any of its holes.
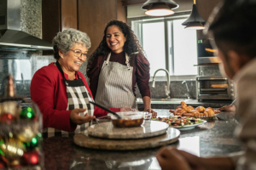
{"type": "Polygon", "coordinates": [[[79,116],[79,113],[82,113],[86,111],[86,109],[74,109],[70,113],[70,120],[74,124],[81,125],[84,122],[90,122],[92,119],[95,119],[95,116],[89,116],[88,113],[86,113],[84,116],[79,116]]]}

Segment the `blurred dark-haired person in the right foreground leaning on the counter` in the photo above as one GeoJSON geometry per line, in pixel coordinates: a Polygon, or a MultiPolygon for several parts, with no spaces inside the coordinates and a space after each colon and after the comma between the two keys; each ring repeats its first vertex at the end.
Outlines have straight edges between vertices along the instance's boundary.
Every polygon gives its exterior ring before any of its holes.
{"type": "Polygon", "coordinates": [[[241,126],[235,134],[245,150],[229,156],[197,157],[164,147],[156,157],[166,169],[256,169],[256,1],[225,0],[213,10],[208,33],[214,38],[226,75],[236,82],[236,115],[241,126]],[[175,162],[175,163],[174,163],[175,162]]]}

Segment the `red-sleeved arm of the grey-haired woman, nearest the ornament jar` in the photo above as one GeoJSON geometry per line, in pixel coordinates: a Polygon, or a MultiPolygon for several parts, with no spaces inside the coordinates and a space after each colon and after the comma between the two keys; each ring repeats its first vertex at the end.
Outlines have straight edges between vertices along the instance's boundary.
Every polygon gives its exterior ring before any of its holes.
{"type": "MultiPolygon", "coordinates": [[[[73,132],[77,127],[70,122],[71,111],[58,111],[55,109],[55,90],[66,93],[66,88],[56,86],[56,80],[52,77],[53,74],[49,73],[47,68],[41,69],[35,73],[31,82],[31,98],[34,101],[43,115],[44,127],[54,127],[67,132],[73,132]]],[[[65,94],[63,94],[64,96],[65,94]]],[[[61,97],[63,97],[61,96],[61,97]]],[[[63,97],[64,98],[64,97],[63,97]]],[[[66,94],[67,99],[67,94],[66,94]]],[[[60,99],[63,102],[63,108],[65,107],[64,99],[60,99]]],[[[67,101],[66,101],[67,108],[67,101]]]]}

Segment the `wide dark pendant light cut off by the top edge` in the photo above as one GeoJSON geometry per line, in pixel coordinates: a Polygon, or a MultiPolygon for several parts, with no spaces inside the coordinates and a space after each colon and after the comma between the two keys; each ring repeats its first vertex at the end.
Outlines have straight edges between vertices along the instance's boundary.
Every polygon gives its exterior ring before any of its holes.
{"type": "Polygon", "coordinates": [[[149,16],[166,16],[174,14],[172,9],[178,8],[178,4],[172,0],[148,0],[142,8],[147,10],[145,14],[149,16]]]}

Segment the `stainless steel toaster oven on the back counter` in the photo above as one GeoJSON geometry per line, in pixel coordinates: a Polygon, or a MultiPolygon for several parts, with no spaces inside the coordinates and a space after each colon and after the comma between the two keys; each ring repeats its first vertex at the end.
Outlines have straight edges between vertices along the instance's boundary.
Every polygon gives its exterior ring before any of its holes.
{"type": "Polygon", "coordinates": [[[226,77],[196,77],[196,99],[235,99],[235,84],[226,77]]]}

